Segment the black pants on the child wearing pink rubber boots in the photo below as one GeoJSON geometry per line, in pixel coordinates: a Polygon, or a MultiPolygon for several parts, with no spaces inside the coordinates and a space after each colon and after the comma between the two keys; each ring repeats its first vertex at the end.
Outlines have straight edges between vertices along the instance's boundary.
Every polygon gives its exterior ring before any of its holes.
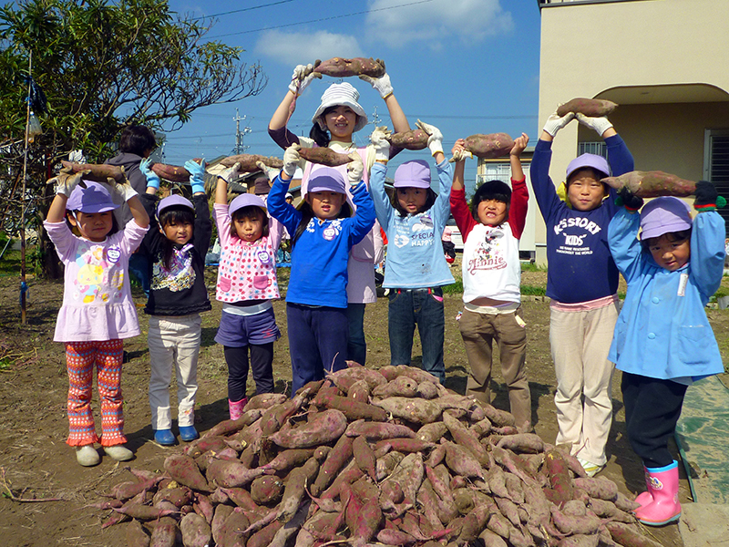
{"type": "Polygon", "coordinates": [[[622,373],[628,440],[647,468],[661,468],[673,462],[668,439],[681,417],[686,387],[671,380],[622,373]]]}

